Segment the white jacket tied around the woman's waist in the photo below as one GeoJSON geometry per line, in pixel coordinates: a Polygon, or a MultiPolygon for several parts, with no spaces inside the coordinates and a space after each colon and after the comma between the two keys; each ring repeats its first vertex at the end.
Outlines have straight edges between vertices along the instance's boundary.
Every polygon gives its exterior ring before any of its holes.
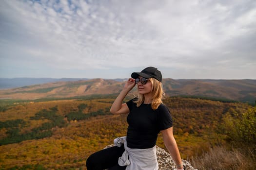
{"type": "Polygon", "coordinates": [[[118,159],[118,165],[127,166],[125,170],[158,170],[156,146],[147,149],[127,147],[126,136],[114,139],[114,145],[124,144],[125,151],[118,159]]]}

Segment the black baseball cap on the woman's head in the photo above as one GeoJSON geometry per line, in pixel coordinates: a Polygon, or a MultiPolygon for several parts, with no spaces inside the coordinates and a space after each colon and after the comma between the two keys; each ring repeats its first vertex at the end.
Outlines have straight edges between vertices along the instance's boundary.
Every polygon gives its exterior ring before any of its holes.
{"type": "Polygon", "coordinates": [[[133,72],[131,76],[134,79],[138,78],[138,76],[145,77],[145,78],[153,77],[157,79],[159,82],[162,82],[161,72],[158,70],[158,68],[154,68],[154,67],[145,68],[140,72],[133,72]]]}

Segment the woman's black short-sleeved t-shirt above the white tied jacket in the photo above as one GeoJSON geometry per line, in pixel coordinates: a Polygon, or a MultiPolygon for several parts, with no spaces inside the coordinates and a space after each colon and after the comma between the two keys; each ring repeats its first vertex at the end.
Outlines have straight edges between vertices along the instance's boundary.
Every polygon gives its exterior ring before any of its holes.
{"type": "Polygon", "coordinates": [[[151,104],[137,107],[133,100],[126,104],[130,110],[126,138],[129,148],[152,148],[156,145],[158,133],[173,126],[170,111],[164,104],[160,104],[156,110],[151,108],[151,104]]]}

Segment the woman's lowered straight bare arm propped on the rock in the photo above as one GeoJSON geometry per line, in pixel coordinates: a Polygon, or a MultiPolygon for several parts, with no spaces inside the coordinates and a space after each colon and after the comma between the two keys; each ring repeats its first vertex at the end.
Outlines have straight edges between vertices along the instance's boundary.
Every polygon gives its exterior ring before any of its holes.
{"type": "Polygon", "coordinates": [[[180,158],[180,154],[178,151],[176,140],[173,136],[173,127],[161,131],[163,136],[163,142],[168,149],[169,153],[172,155],[174,159],[177,169],[183,170],[182,160],[180,158]]]}

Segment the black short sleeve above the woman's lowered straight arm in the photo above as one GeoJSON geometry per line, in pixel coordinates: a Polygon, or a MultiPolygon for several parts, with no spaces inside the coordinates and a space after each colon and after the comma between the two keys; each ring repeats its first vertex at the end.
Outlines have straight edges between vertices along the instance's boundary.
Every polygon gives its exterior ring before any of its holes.
{"type": "Polygon", "coordinates": [[[167,106],[160,104],[158,107],[158,128],[159,131],[173,126],[173,119],[167,106]]]}

